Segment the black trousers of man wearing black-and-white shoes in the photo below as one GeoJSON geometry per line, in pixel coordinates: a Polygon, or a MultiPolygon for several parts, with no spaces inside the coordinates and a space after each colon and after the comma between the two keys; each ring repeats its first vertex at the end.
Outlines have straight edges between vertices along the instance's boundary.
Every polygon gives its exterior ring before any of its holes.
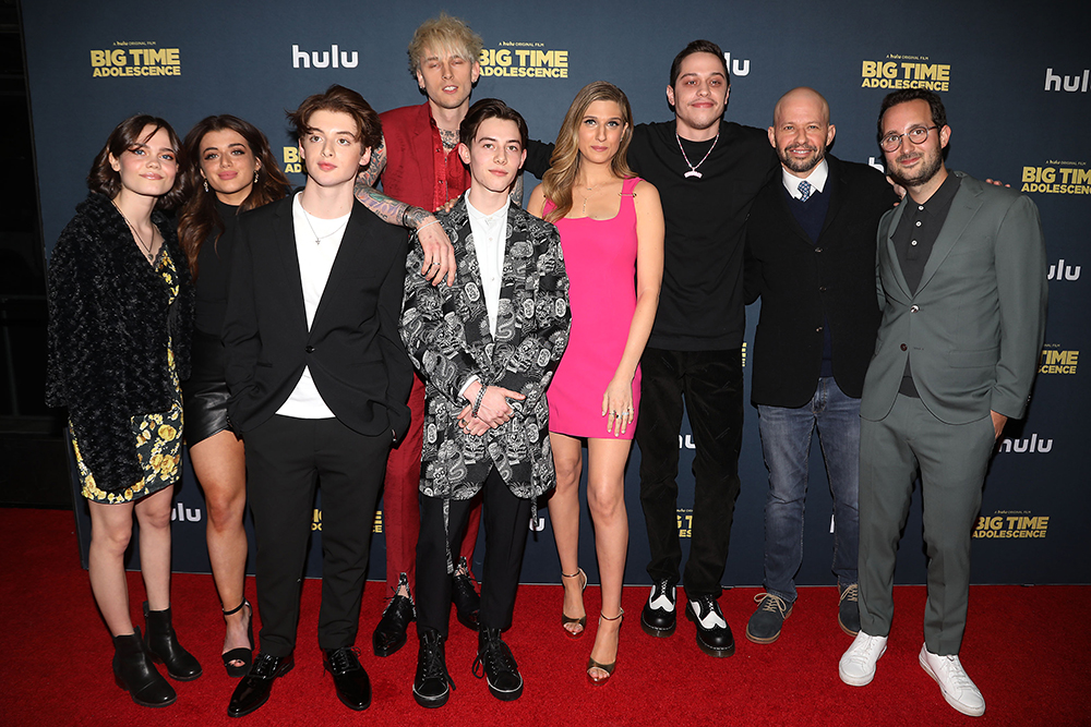
{"type": "Polygon", "coordinates": [[[742,351],[646,349],[640,359],[640,504],[648,528],[652,580],[679,582],[679,431],[685,399],[696,455],[686,595],[719,597],[731,519],[739,497],[743,436],[742,351]]]}

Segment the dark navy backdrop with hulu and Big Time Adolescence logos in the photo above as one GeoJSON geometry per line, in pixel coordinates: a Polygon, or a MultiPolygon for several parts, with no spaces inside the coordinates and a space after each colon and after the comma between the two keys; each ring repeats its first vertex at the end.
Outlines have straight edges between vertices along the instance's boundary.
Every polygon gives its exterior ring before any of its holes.
{"type": "MultiPolygon", "coordinates": [[[[974,530],[976,583],[1088,583],[1091,488],[1084,469],[1091,362],[1081,366],[1091,326],[1091,10],[1086,2],[963,0],[874,3],[756,3],[690,0],[572,0],[551,3],[421,0],[190,0],[155,7],[130,0],[23,3],[45,252],[86,196],[95,154],[123,118],[148,112],[183,135],[208,114],[233,113],[261,128],[293,184],[302,184],[285,110],[333,83],[358,89],[379,111],[423,101],[406,47],[421,22],[447,11],[483,38],[475,98],[518,109],[531,136],[552,141],[575,93],[611,81],[637,122],[671,118],[664,90],[675,53],[690,40],[719,44],[732,75],[727,119],[759,128],[786,90],[807,85],[830,102],[834,153],[882,166],[875,138],[879,102],[891,89],[938,92],[954,130],[948,167],[1009,183],[1039,206],[1048,251],[1050,313],[1027,419],[1009,423],[985,483],[974,530]],[[397,5],[397,7],[396,7],[397,5]]],[[[526,179],[527,195],[536,184],[526,179]]],[[[747,311],[753,341],[758,304],[747,311]]],[[[751,351],[744,351],[747,359],[751,351]]],[[[750,371],[746,369],[747,398],[750,371]]],[[[694,443],[679,432],[678,523],[684,549],[693,518],[694,443]]],[[[831,584],[832,505],[817,438],[811,458],[801,584],[831,584]]],[[[631,543],[626,582],[646,583],[648,544],[634,448],[626,476],[631,543]]],[[[767,473],[757,414],[746,409],[735,510],[723,584],[763,578],[767,473]]],[[[89,520],[77,497],[84,561],[89,520]]],[[[558,582],[548,511],[527,547],[526,582],[558,582]]],[[[206,511],[187,464],[175,506],[175,567],[207,571],[206,511]]],[[[370,578],[384,575],[384,522],[374,531],[370,578]]],[[[597,580],[592,530],[584,514],[580,561],[597,580]]],[[[314,505],[309,575],[321,573],[321,498],[314,505]]],[[[135,538],[134,538],[135,540],[135,538]]],[[[252,550],[253,552],[253,550],[252,550]]],[[[478,572],[483,545],[478,548],[478,572]]],[[[134,554],[136,557],[136,554],[134,554]]],[[[924,582],[918,490],[897,579],[924,582]]]]}

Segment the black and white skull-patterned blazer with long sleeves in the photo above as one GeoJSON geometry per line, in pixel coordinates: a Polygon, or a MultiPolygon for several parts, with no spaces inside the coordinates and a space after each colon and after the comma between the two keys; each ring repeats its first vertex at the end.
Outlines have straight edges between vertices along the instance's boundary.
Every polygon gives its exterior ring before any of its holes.
{"type": "Polygon", "coordinates": [[[469,499],[495,467],[516,497],[537,499],[556,484],[549,444],[546,388],[568,343],[568,277],[556,228],[512,206],[496,335],[489,314],[465,195],[441,225],[455,249],[455,284],[420,275],[423,253],[410,246],[401,338],[425,381],[420,489],[428,497],[469,499]],[[458,428],[466,405],[458,390],[470,376],[519,391],[506,424],[473,436],[458,428]]]}

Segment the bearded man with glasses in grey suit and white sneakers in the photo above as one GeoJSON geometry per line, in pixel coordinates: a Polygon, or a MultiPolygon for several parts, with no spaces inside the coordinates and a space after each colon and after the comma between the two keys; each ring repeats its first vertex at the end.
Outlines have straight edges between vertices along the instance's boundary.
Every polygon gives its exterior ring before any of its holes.
{"type": "Polygon", "coordinates": [[[951,130],[936,94],[889,94],[878,131],[887,171],[909,196],[878,230],[883,322],[860,407],[861,628],[839,673],[862,687],[886,651],[895,556],[920,472],[920,663],[951,706],[979,716],[984,699],[958,658],[970,537],[995,441],[1027,409],[1045,328],[1045,243],[1028,197],[947,170],[951,130]]]}

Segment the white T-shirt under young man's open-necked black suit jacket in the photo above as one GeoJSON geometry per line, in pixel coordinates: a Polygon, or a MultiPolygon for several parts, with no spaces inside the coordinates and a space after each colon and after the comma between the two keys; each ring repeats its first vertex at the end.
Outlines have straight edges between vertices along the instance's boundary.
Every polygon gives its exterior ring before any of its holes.
{"type": "MultiPolygon", "coordinates": [[[[334,219],[322,219],[303,209],[301,196],[297,194],[291,202],[291,219],[296,233],[299,282],[303,289],[303,310],[307,313],[307,328],[310,329],[352,213],[334,219]],[[315,238],[320,242],[315,243],[315,238]]],[[[296,419],[332,419],[335,415],[322,400],[311,372],[305,366],[291,396],[276,413],[296,419]]]]}

